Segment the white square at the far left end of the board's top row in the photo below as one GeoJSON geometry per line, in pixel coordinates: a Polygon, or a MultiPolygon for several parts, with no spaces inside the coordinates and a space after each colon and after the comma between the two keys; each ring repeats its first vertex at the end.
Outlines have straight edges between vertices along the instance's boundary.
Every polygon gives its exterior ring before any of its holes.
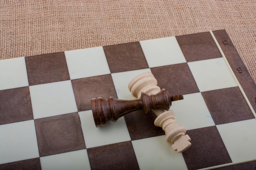
{"type": "Polygon", "coordinates": [[[25,57],[0,60],[0,90],[29,86],[25,57]]]}

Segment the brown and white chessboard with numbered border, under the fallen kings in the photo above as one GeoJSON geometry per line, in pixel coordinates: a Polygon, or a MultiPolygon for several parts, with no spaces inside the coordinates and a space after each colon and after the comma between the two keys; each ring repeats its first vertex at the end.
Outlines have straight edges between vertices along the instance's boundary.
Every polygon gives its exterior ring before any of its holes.
{"type": "Polygon", "coordinates": [[[0,169],[252,170],[256,85],[225,30],[0,60],[0,169]],[[137,110],[96,127],[94,97],[135,99],[150,72],[191,146],[137,110]]]}

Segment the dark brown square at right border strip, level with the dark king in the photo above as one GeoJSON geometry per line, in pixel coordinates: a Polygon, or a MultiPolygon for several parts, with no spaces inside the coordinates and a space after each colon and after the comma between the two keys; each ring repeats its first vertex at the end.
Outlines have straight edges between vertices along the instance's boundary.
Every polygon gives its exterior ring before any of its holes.
{"type": "Polygon", "coordinates": [[[206,91],[202,96],[216,125],[254,119],[238,87],[206,91]]]}

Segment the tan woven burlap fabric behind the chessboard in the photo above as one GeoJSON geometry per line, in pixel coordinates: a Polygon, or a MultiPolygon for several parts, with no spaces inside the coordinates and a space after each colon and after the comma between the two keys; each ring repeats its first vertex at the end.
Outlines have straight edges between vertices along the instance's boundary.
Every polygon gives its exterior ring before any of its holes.
{"type": "Polygon", "coordinates": [[[0,59],[226,29],[256,82],[256,0],[1,0],[0,59]]]}

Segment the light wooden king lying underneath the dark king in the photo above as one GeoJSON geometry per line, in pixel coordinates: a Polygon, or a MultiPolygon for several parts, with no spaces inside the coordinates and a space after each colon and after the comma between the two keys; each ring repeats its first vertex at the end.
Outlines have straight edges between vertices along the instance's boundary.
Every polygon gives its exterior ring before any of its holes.
{"type": "MultiPolygon", "coordinates": [[[[134,97],[140,99],[141,92],[148,95],[155,95],[160,91],[157,86],[157,80],[154,75],[149,72],[141,73],[134,77],[128,84],[129,91],[134,97]]],[[[165,140],[172,144],[172,148],[178,152],[184,152],[191,146],[191,138],[186,134],[186,129],[179,126],[174,119],[175,112],[173,110],[154,109],[157,115],[155,126],[162,127],[165,131],[165,140]]]]}

